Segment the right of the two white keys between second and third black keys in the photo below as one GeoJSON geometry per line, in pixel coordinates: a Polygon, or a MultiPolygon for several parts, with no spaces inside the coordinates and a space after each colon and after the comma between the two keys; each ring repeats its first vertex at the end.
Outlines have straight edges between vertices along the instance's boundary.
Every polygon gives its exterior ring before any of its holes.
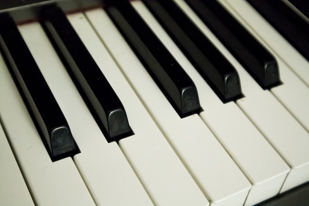
{"type": "MultiPolygon", "coordinates": [[[[132,4],[147,11],[140,1],[132,4]]],[[[242,205],[251,184],[200,117],[179,117],[102,9],[86,15],[211,205],[242,205]]]]}

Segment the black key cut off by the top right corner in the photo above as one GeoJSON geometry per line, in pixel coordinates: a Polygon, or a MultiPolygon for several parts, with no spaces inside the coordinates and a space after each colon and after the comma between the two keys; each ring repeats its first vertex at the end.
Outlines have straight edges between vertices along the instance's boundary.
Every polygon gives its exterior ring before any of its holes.
{"type": "MultiPolygon", "coordinates": [[[[287,41],[309,60],[309,33],[285,12],[281,0],[247,0],[287,41]]],[[[305,23],[306,24],[306,23],[305,23]]],[[[305,27],[306,28],[306,27],[305,27]]]]}

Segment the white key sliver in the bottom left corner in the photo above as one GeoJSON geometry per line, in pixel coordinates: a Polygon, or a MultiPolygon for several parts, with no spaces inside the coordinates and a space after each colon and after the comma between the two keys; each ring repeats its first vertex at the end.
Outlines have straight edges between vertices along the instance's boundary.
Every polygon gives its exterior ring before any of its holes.
{"type": "MultiPolygon", "coordinates": [[[[0,57],[1,58],[1,57],[0,57]]],[[[34,206],[30,192],[0,125],[0,205],[34,206]]]]}

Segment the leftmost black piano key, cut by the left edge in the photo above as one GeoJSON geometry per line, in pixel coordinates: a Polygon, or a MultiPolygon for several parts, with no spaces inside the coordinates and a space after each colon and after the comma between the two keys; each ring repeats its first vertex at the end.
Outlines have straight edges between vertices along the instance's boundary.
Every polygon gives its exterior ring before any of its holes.
{"type": "MultiPolygon", "coordinates": [[[[43,134],[53,161],[79,152],[69,125],[14,21],[0,15],[0,45],[11,73],[19,83],[43,134]]],[[[16,128],[18,129],[18,128],[16,128]]]]}

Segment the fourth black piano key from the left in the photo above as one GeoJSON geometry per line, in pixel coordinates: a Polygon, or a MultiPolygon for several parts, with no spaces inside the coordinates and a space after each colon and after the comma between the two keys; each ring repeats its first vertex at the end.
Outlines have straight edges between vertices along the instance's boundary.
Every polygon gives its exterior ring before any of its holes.
{"type": "Polygon", "coordinates": [[[171,0],[143,0],[223,102],[241,97],[236,70],[171,0]]]}

